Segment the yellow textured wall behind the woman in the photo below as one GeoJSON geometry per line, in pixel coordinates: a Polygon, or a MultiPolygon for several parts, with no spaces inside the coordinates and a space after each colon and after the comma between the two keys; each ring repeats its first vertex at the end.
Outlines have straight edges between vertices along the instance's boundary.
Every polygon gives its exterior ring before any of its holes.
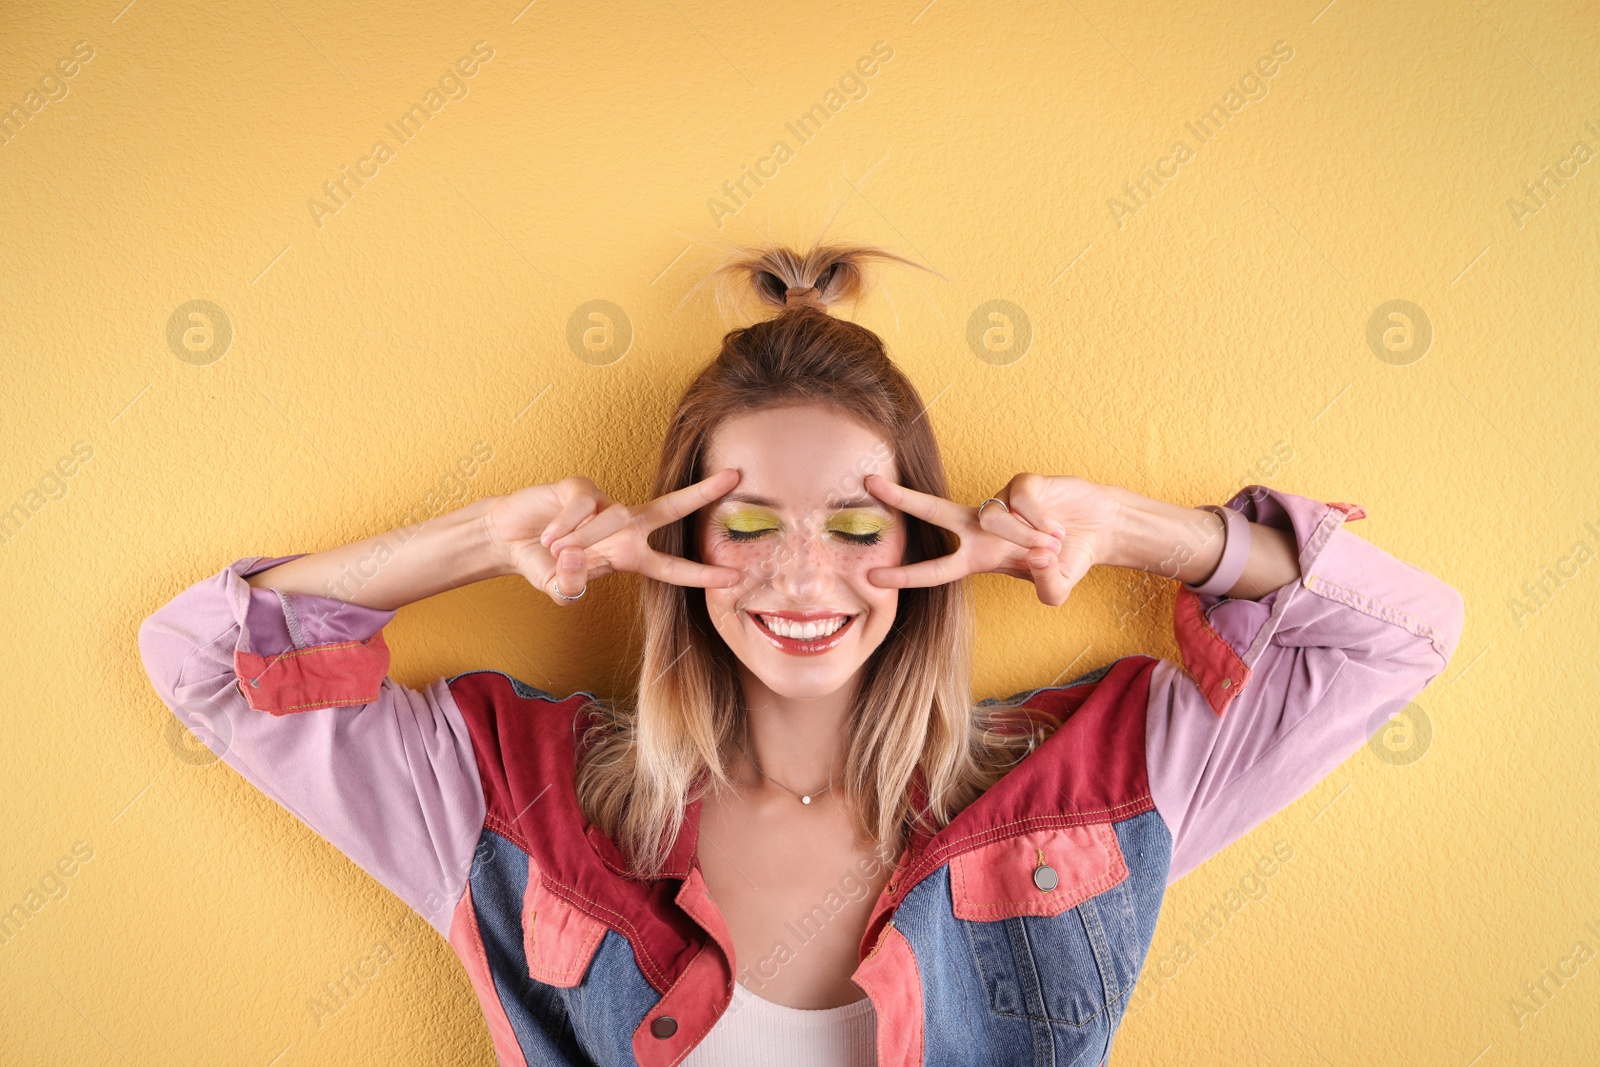
{"type": "MultiPolygon", "coordinates": [[[[1410,737],[1171,889],[1117,1062],[1594,1062],[1592,3],[123,2],[0,13],[0,910],[30,915],[0,1061],[493,1062],[445,942],[174,733],[134,632],[234,558],[453,490],[637,499],[725,328],[680,307],[707,258],[837,211],[944,275],[891,272],[858,317],[958,498],[1264,482],[1365,506],[1355,533],[1469,605],[1410,737]],[[626,352],[568,342],[590,301],[626,352]]],[[[976,584],[981,694],[1176,654],[1162,579],[1099,569],[1061,609],[976,584]]],[[[630,593],[438,597],[392,624],[394,673],[613,693],[630,593]]]]}

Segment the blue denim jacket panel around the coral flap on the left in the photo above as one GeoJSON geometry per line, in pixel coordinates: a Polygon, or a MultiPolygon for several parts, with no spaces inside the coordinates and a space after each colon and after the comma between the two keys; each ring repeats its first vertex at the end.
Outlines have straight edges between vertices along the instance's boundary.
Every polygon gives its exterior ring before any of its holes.
{"type": "Polygon", "coordinates": [[[634,1064],[634,1030],[659,997],[634,949],[606,931],[582,984],[565,989],[528,974],[522,902],[528,854],[485,830],[474,857],[470,893],[494,990],[530,1065],[622,1067],[634,1064]]]}

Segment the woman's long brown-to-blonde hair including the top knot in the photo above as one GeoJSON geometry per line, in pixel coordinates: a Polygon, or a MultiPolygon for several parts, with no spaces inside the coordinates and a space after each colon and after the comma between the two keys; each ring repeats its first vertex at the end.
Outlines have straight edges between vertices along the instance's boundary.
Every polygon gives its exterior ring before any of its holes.
{"type": "MultiPolygon", "coordinates": [[[[693,485],[717,426],[736,414],[789,403],[822,403],[874,427],[893,448],[899,483],[947,496],[944,462],[917,389],[866,326],[827,307],[866,291],[870,259],[909,259],[870,246],[736,250],[710,277],[781,309],[728,331],[722,352],[678,400],[661,446],[653,496],[693,485]],[[789,291],[800,299],[790,301],[789,291]],[[806,293],[811,290],[811,293],[806,293]]],[[[718,294],[718,302],[720,301],[718,294]]],[[[864,472],[858,472],[858,478],[864,472]]],[[[859,490],[859,482],[850,491],[859,490]]],[[[955,536],[906,515],[906,561],[955,549],[955,536]]],[[[661,552],[698,558],[696,517],[651,534],[661,552]]],[[[643,662],[622,701],[587,705],[578,765],[586,817],[627,857],[630,870],[661,870],[686,806],[731,787],[744,731],[733,651],[715,632],[702,589],[643,579],[643,662]]],[[[894,625],[867,659],[848,720],[843,781],[835,790],[859,840],[891,862],[906,832],[928,832],[998,781],[1051,723],[1006,704],[973,705],[973,616],[966,582],[902,589],[894,625]],[[925,806],[914,811],[915,789],[925,806]]]]}

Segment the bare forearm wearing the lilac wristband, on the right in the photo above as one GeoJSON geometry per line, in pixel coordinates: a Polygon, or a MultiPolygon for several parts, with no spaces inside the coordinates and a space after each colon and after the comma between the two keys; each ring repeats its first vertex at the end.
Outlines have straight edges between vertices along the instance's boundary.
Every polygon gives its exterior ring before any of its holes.
{"type": "MultiPolygon", "coordinates": [[[[1110,537],[1110,566],[1154,571],[1197,585],[1222,560],[1224,525],[1221,517],[1141,496],[1122,486],[1106,490],[1117,502],[1115,534],[1110,537]]],[[[1299,577],[1294,534],[1275,526],[1250,523],[1250,557],[1245,571],[1226,597],[1261,600],[1274,589],[1299,577]]]]}

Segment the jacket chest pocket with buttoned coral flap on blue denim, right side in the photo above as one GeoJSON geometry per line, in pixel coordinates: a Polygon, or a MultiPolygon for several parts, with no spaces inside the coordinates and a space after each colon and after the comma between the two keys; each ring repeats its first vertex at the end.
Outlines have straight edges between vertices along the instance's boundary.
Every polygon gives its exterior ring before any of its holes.
{"type": "Polygon", "coordinates": [[[1005,1016],[1086,1027],[1109,1022],[1131,985],[1118,966],[1128,865],[1110,824],[1040,830],[950,861],[989,1005],[1005,1016]]]}

